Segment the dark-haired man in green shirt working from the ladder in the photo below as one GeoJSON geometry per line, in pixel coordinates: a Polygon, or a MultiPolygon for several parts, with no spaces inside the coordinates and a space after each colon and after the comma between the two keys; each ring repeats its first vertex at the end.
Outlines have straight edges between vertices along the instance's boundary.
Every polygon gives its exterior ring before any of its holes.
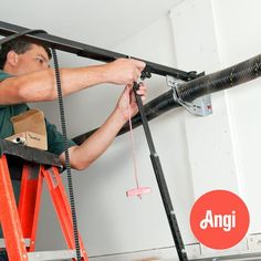
{"type": "MultiPolygon", "coordinates": [[[[52,101],[58,97],[54,70],[50,67],[50,50],[20,40],[6,43],[0,53],[0,138],[13,135],[10,118],[29,109],[27,103],[52,101]]],[[[69,140],[72,168],[85,169],[111,145],[130,115],[137,113],[132,90],[145,67],[145,63],[132,59],[118,59],[104,65],[60,69],[63,95],[102,84],[126,85],[115,109],[107,121],[81,146],[69,140]]],[[[138,94],[144,101],[146,86],[138,94]]],[[[46,121],[49,152],[59,155],[64,164],[62,135],[46,121]]],[[[18,184],[14,185],[18,190],[18,184]]],[[[0,257],[1,260],[1,257],[0,257]]]]}

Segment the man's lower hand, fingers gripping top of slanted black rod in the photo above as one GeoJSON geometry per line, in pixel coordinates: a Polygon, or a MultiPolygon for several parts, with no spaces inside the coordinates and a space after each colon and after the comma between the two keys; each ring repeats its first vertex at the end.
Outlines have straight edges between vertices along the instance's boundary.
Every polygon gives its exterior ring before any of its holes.
{"type": "MultiPolygon", "coordinates": [[[[143,83],[139,84],[139,90],[137,94],[142,96],[142,101],[145,101],[147,94],[147,86],[143,83]]],[[[133,117],[138,112],[135,94],[133,91],[133,84],[128,84],[123,94],[121,95],[116,109],[119,112],[124,122],[128,121],[128,115],[130,111],[130,117],[133,117]]]]}

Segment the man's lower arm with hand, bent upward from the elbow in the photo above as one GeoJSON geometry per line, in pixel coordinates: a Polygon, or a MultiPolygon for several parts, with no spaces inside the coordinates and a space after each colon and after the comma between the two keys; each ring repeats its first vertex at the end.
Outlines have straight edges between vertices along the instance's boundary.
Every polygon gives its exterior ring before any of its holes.
{"type": "MultiPolygon", "coordinates": [[[[143,101],[146,95],[146,86],[142,85],[137,92],[143,96],[143,101]]],[[[125,88],[114,112],[88,139],[81,146],[69,148],[70,163],[73,168],[79,170],[87,168],[106,150],[119,129],[128,121],[128,103],[130,116],[134,116],[137,113],[137,105],[132,86],[125,88]]],[[[60,159],[64,163],[64,153],[60,156],[60,159]]]]}

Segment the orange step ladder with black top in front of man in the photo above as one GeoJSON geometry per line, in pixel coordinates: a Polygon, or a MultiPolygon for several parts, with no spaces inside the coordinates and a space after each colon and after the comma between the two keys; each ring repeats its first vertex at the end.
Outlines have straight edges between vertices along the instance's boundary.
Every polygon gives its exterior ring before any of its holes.
{"type": "MultiPolygon", "coordinates": [[[[71,208],[53,154],[0,139],[0,223],[9,261],[76,260],[71,208]],[[9,171],[10,157],[24,160],[17,207],[9,171]],[[50,164],[51,163],[51,164],[50,164]],[[42,182],[45,180],[69,250],[35,252],[42,182]],[[29,240],[29,243],[25,243],[29,240]]],[[[87,261],[81,236],[81,260],[87,261]]]]}

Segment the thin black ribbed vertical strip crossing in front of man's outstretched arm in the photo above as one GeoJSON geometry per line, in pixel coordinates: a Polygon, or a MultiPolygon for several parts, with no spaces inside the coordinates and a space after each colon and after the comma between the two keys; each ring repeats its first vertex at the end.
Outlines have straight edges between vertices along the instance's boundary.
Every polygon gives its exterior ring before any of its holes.
{"type": "Polygon", "coordinates": [[[79,231],[77,217],[76,217],[75,200],[74,200],[74,192],[73,192],[73,180],[72,180],[72,171],[71,171],[72,169],[71,169],[69,147],[67,147],[67,132],[66,132],[65,114],[64,114],[64,106],[63,106],[63,94],[62,94],[58,55],[56,55],[56,51],[54,49],[52,49],[52,54],[53,54],[53,64],[54,64],[56,87],[58,87],[60,119],[61,119],[61,125],[62,125],[63,145],[64,145],[64,154],[65,154],[65,167],[66,167],[66,173],[67,173],[69,197],[70,197],[72,220],[73,220],[74,243],[75,243],[75,249],[76,249],[76,259],[77,259],[77,261],[81,261],[81,249],[80,249],[80,240],[79,240],[79,232],[77,232],[79,231]]]}

